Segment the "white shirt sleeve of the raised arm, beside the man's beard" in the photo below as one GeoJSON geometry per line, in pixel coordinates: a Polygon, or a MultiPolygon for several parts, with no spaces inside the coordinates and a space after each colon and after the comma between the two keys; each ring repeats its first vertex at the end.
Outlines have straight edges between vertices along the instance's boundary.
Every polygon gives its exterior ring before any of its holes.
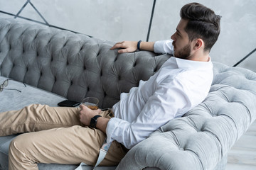
{"type": "Polygon", "coordinates": [[[160,40],[154,42],[154,52],[174,55],[174,45],[172,45],[172,42],[173,40],[160,40]]]}

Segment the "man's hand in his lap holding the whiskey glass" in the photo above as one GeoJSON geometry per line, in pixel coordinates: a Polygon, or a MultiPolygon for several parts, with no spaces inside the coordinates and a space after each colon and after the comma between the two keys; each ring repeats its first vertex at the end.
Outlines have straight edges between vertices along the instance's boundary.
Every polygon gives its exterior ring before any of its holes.
{"type": "Polygon", "coordinates": [[[100,109],[97,110],[91,110],[90,108],[88,108],[87,106],[81,104],[79,106],[81,108],[80,110],[80,122],[84,125],[90,125],[90,120],[95,116],[98,115],[100,113],[100,109]]]}

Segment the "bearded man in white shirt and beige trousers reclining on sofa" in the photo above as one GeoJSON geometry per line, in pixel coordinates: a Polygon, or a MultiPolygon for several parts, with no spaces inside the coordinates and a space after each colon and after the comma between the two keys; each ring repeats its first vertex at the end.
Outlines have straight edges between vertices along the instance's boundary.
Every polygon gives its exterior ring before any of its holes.
{"type": "Polygon", "coordinates": [[[213,80],[209,52],[219,33],[220,16],[201,4],[187,4],[172,40],[125,41],[111,48],[174,55],[148,81],[121,94],[112,111],[31,105],[0,113],[1,135],[28,132],[11,142],[9,169],[38,169],[38,162],[94,165],[106,135],[112,145],[101,165],[118,164],[125,147],[131,149],[206,98],[213,80]],[[97,123],[88,128],[92,118],[97,123]]]}

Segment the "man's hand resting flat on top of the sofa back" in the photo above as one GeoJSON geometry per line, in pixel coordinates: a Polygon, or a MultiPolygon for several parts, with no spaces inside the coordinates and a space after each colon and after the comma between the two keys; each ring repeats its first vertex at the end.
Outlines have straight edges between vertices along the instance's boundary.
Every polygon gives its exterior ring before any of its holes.
{"type": "Polygon", "coordinates": [[[112,48],[110,48],[110,50],[114,50],[117,48],[122,48],[121,50],[118,50],[118,53],[134,52],[137,50],[137,41],[117,42],[112,48]]]}

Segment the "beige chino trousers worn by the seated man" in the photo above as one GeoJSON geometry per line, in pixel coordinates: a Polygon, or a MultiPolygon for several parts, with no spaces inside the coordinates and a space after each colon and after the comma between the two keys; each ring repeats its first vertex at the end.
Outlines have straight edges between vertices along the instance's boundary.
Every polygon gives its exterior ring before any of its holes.
{"type": "MultiPolygon", "coordinates": [[[[0,136],[18,135],[9,147],[9,169],[38,169],[37,163],[94,166],[105,133],[80,123],[80,108],[31,105],[19,111],[0,113],[0,136]]],[[[111,118],[110,111],[100,115],[111,118]]],[[[100,166],[117,165],[126,152],[112,145],[100,166]]]]}

